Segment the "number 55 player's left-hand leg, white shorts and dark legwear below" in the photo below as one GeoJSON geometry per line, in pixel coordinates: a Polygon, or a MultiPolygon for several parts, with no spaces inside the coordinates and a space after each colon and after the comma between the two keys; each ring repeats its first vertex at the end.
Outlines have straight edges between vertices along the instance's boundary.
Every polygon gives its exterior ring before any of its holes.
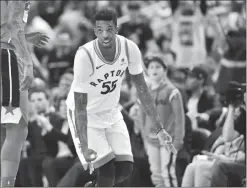
{"type": "MultiPolygon", "coordinates": [[[[74,112],[69,109],[67,112],[68,123],[77,155],[84,169],[87,169],[88,165],[84,159],[81,149],[78,147],[79,139],[75,137],[74,112]]],[[[105,129],[88,127],[88,147],[97,152],[97,159],[92,162],[94,168],[97,170],[97,186],[113,186],[115,172],[113,159],[115,156],[111,147],[108,144],[105,129]]],[[[90,184],[90,186],[92,185],[90,184]]]]}

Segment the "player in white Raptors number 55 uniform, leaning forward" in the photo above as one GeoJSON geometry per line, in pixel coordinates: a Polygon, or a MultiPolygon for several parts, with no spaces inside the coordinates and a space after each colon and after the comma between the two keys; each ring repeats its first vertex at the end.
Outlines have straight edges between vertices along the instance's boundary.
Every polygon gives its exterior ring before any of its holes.
{"type": "Polygon", "coordinates": [[[117,35],[115,11],[99,11],[94,31],[97,39],[81,46],[75,55],[74,80],[67,98],[68,122],[82,165],[85,169],[88,164],[97,168],[97,182],[88,186],[112,187],[125,180],[133,169],[130,138],[118,107],[126,68],[144,110],[156,125],[153,128],[159,139],[172,152],[176,149],[144,81],[139,48],[117,35]]]}

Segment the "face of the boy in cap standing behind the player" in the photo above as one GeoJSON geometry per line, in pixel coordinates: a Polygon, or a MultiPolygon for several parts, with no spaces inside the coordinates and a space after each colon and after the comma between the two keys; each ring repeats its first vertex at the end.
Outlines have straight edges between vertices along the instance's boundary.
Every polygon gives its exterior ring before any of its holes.
{"type": "Polygon", "coordinates": [[[156,61],[149,63],[148,75],[151,80],[154,80],[154,81],[161,80],[162,78],[164,78],[165,72],[166,71],[164,70],[164,67],[160,63],[156,61]]]}

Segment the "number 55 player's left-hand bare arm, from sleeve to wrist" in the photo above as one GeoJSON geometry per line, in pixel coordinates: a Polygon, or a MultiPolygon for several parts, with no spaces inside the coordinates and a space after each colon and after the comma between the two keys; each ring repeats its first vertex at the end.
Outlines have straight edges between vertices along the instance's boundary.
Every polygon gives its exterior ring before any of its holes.
{"type": "Polygon", "coordinates": [[[87,93],[74,92],[75,100],[75,133],[79,137],[81,149],[86,152],[88,150],[87,139],[87,93]]]}

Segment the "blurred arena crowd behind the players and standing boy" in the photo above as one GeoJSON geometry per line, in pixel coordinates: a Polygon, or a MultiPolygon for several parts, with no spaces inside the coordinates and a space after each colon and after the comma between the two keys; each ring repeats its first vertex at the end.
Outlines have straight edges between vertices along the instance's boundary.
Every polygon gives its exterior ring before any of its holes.
{"type": "MultiPolygon", "coordinates": [[[[161,57],[169,79],[182,94],[186,121],[184,145],[176,161],[178,185],[192,182],[191,186],[198,186],[213,174],[211,185],[220,185],[217,178],[221,177],[227,186],[244,186],[244,0],[32,1],[27,32],[42,32],[51,40],[41,49],[29,46],[35,79],[29,94],[28,138],[16,186],[83,186],[95,178],[82,168],[76,155],[65,100],[73,80],[75,52],[95,38],[94,14],[104,7],[116,9],[119,34],[139,46],[143,67],[148,58],[161,57]],[[234,163],[229,167],[226,159],[234,163]],[[203,160],[214,163],[210,163],[210,170],[198,173],[196,170],[202,168],[198,161],[203,160]]],[[[128,72],[119,103],[131,138],[135,168],[118,186],[154,186],[128,72]]]]}

